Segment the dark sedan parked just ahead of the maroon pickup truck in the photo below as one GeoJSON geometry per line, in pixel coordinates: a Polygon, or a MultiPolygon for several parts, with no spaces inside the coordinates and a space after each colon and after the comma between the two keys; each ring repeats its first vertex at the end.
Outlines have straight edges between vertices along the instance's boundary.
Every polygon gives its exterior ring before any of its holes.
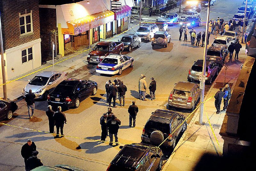
{"type": "Polygon", "coordinates": [[[141,38],[134,34],[129,34],[123,36],[120,41],[124,43],[124,49],[131,51],[132,48],[140,47],[141,38]]]}

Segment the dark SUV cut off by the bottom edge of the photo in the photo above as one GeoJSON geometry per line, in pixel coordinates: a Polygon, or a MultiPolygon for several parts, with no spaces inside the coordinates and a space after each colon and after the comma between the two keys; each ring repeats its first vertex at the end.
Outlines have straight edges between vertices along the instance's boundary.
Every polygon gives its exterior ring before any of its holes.
{"type": "Polygon", "coordinates": [[[133,144],[120,146],[119,148],[122,150],[118,152],[116,157],[111,161],[107,171],[161,170],[163,164],[163,152],[158,148],[156,153],[156,146],[133,144]]]}

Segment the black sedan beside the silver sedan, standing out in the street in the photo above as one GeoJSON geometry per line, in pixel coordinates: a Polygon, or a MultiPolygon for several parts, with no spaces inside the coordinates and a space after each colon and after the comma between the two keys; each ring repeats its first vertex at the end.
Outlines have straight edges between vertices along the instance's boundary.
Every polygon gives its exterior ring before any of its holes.
{"type": "Polygon", "coordinates": [[[80,102],[97,93],[98,85],[95,81],[66,79],[62,81],[47,97],[47,103],[64,108],[78,108],[80,102]]]}

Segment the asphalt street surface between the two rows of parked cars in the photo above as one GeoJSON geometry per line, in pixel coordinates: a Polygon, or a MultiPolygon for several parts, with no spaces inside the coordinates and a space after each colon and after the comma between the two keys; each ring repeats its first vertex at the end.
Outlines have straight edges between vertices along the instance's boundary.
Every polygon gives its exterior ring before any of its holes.
{"type": "MultiPolygon", "coordinates": [[[[210,18],[224,18],[229,21],[236,13],[236,9],[242,5],[242,0],[216,0],[211,6],[210,18]]],[[[175,10],[177,11],[177,9],[175,10]]],[[[206,8],[202,11],[203,20],[206,19],[206,8]]],[[[194,28],[196,32],[203,33],[205,24],[194,28]]],[[[136,30],[134,28],[134,30],[136,30]]],[[[127,56],[135,58],[133,68],[123,71],[121,76],[106,76],[95,72],[96,65],[85,65],[84,67],[69,73],[69,78],[90,79],[99,85],[95,96],[90,96],[81,102],[79,108],[65,111],[67,124],[64,126],[64,134],[78,138],[55,138],[51,134],[25,130],[17,127],[0,127],[0,170],[25,170],[24,160],[20,155],[22,144],[28,138],[35,141],[39,155],[44,165],[54,166],[56,164],[68,164],[83,168],[84,170],[106,170],[111,160],[119,152],[119,147],[109,146],[108,143],[100,143],[81,138],[94,140],[100,139],[100,116],[107,111],[105,83],[114,80],[116,77],[124,81],[128,91],[126,92],[125,107],[114,108],[113,112],[122,121],[118,132],[119,142],[121,143],[140,143],[142,129],[147,122],[151,112],[156,109],[166,109],[167,99],[174,83],[186,81],[188,70],[193,62],[202,59],[204,48],[191,46],[189,41],[179,41],[179,25],[169,27],[168,32],[172,35],[172,42],[167,48],[155,46],[151,47],[151,42],[141,43],[140,48],[135,48],[131,52],[124,52],[127,56]],[[151,77],[157,82],[156,100],[138,100],[138,80],[140,74],[146,76],[149,85],[151,77]],[[129,128],[129,114],[127,109],[132,100],[136,100],[139,107],[136,127],[129,128]]],[[[124,34],[134,33],[130,30],[124,34]]],[[[113,41],[117,41],[124,34],[117,36],[113,41]]],[[[182,37],[183,40],[184,37],[182,37]]],[[[188,37],[190,40],[190,38],[188,37]]],[[[211,35],[210,44],[213,41],[211,35]]],[[[208,88],[210,86],[207,86],[208,88]]],[[[147,92],[149,93],[149,92],[147,92]]],[[[149,95],[147,95],[149,98],[149,95]]],[[[118,101],[117,101],[118,102],[118,101]]],[[[37,101],[35,118],[28,119],[27,107],[24,100],[18,102],[19,109],[15,112],[14,118],[10,121],[3,121],[11,125],[30,128],[41,131],[49,131],[48,119],[45,115],[47,108],[46,101],[37,101]]],[[[175,109],[176,111],[189,115],[189,110],[175,109]]],[[[188,120],[189,122],[190,120],[188,120]]],[[[109,138],[107,138],[109,140],[109,138]]],[[[166,159],[171,154],[170,149],[164,149],[166,159]]]]}

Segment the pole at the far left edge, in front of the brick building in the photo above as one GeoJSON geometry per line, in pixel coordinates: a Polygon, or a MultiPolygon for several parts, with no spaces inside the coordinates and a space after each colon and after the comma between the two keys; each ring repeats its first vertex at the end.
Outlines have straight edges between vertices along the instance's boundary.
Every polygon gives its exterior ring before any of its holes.
{"type": "Polygon", "coordinates": [[[3,94],[4,99],[7,99],[7,88],[6,88],[6,78],[5,78],[5,68],[4,68],[4,45],[3,45],[3,35],[2,35],[2,24],[1,24],[1,13],[0,13],[0,51],[1,51],[1,63],[2,63],[2,75],[3,75],[3,94]]]}

